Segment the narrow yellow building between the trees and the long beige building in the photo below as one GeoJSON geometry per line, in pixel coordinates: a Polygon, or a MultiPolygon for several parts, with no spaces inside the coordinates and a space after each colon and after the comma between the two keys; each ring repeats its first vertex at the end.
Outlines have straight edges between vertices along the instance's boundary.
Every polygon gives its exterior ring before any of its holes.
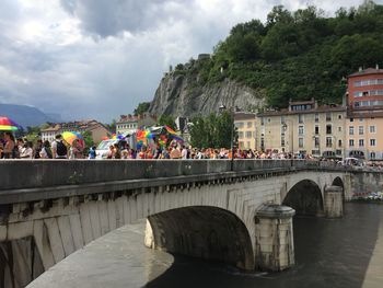
{"type": "Polygon", "coordinates": [[[239,136],[240,149],[256,149],[256,114],[249,112],[235,112],[234,126],[239,136]]]}

